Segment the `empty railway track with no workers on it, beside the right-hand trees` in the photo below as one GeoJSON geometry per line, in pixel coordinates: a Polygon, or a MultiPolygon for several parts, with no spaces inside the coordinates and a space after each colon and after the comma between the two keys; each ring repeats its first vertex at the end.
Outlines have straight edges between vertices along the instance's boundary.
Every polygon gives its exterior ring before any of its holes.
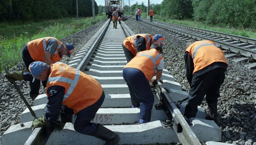
{"type": "MultiPolygon", "coordinates": [[[[133,16],[126,16],[130,19],[135,19],[133,16]]],[[[211,40],[215,42],[219,48],[223,50],[225,57],[239,57],[232,61],[234,62],[250,62],[246,67],[256,69],[256,39],[215,32],[196,27],[168,23],[164,21],[154,20],[150,22],[148,19],[142,19],[144,23],[157,27],[169,35],[175,36],[179,39],[189,40],[211,40]]]]}

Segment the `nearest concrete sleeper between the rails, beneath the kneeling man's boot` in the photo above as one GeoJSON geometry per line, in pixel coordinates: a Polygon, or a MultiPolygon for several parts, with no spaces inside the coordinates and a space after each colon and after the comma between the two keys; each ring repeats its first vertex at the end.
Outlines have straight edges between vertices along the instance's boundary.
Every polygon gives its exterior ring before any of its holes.
{"type": "MultiPolygon", "coordinates": [[[[167,144],[177,143],[176,133],[171,128],[163,128],[160,121],[136,125],[106,125],[108,129],[120,137],[119,144],[167,144]]],[[[103,145],[105,142],[89,135],[76,132],[71,123],[66,123],[64,129],[54,130],[46,145],[54,144],[88,144],[103,145]],[[56,140],[58,138],[58,140],[56,140]],[[72,138],[72,139],[71,139],[72,138]]]]}

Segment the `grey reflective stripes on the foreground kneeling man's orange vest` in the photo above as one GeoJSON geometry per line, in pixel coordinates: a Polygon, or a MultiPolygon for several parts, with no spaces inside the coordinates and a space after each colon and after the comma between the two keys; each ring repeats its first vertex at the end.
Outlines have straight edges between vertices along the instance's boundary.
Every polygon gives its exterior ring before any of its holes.
{"type": "MultiPolygon", "coordinates": [[[[61,62],[57,62],[55,64],[59,64],[59,63],[61,63],[61,62]]],[[[66,83],[70,84],[67,93],[64,95],[64,98],[63,98],[63,102],[64,102],[70,96],[70,94],[74,91],[74,89],[77,85],[77,82],[79,80],[79,77],[80,77],[79,69],[76,69],[76,76],[75,76],[74,80],[66,78],[66,77],[49,77],[48,82],[62,81],[62,82],[66,82],[66,83]]]]}

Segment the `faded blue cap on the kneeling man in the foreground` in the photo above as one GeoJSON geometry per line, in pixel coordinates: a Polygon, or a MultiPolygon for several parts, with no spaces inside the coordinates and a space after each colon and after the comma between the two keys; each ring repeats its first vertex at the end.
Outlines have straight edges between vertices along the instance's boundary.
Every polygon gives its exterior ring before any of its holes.
{"type": "Polygon", "coordinates": [[[29,71],[31,72],[33,78],[33,81],[35,80],[36,77],[38,77],[44,69],[47,67],[47,65],[43,65],[45,63],[43,62],[33,62],[29,65],[29,71]]]}

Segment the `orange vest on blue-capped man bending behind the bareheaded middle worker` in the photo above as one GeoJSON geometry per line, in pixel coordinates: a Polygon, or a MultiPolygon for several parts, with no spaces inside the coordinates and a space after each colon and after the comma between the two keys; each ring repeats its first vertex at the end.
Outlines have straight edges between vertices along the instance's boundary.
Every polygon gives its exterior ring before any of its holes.
{"type": "Polygon", "coordinates": [[[125,48],[127,48],[130,52],[132,52],[132,54],[134,56],[136,56],[137,52],[137,48],[136,48],[136,38],[137,36],[141,36],[144,37],[146,40],[146,50],[150,49],[150,40],[152,39],[152,35],[151,34],[136,34],[136,35],[132,35],[130,37],[125,38],[123,45],[125,46],[125,48]]]}

